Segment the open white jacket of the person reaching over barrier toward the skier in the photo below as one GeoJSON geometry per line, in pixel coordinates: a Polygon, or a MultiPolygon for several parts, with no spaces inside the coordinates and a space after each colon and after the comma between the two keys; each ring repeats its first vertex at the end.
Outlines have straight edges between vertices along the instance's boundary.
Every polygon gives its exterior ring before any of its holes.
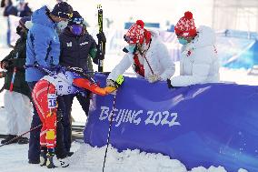
{"type": "MultiPolygon", "coordinates": [[[[164,43],[160,40],[159,35],[153,31],[151,31],[151,33],[152,42],[145,57],[152,67],[154,75],[160,76],[160,80],[165,81],[167,78],[174,75],[174,62],[169,56],[166,46],[164,46],[164,43]]],[[[150,76],[153,75],[150,67],[143,56],[139,55],[139,61],[141,64],[144,64],[144,78],[149,80],[150,76]]],[[[125,70],[130,66],[134,68],[134,55],[132,53],[126,53],[120,63],[114,67],[107,79],[115,81],[116,78],[124,74],[125,70]]],[[[138,74],[136,75],[139,76],[138,74]]]]}

